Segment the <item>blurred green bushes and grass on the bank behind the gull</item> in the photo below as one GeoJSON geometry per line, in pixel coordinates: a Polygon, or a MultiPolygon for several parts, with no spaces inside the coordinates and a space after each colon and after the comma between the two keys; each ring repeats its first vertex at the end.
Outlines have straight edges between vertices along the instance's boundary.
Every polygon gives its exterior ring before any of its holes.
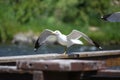
{"type": "Polygon", "coordinates": [[[119,45],[120,23],[100,19],[118,11],[120,0],[0,0],[0,43],[19,32],[77,29],[102,45],[119,45]]]}

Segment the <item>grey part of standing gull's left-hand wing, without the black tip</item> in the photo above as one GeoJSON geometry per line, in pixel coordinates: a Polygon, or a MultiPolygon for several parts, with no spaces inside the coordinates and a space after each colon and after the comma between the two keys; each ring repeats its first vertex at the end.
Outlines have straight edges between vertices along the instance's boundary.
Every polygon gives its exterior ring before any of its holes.
{"type": "Polygon", "coordinates": [[[38,38],[38,43],[41,45],[42,43],[45,42],[46,38],[50,35],[52,35],[53,31],[49,29],[45,29],[39,36],[38,38]]]}

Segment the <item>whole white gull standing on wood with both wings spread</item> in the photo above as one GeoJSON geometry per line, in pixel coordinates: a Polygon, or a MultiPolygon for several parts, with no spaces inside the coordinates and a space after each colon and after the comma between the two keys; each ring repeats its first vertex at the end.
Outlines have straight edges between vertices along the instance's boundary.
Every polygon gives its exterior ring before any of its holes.
{"type": "Polygon", "coordinates": [[[45,29],[36,40],[34,51],[37,51],[38,48],[45,43],[58,43],[65,47],[64,54],[66,54],[67,49],[70,46],[74,44],[83,45],[83,42],[79,40],[79,38],[81,37],[87,40],[90,44],[96,46],[99,49],[102,49],[99,44],[97,44],[87,35],[78,30],[72,30],[69,35],[64,35],[59,30],[52,31],[49,29],[45,29]]]}

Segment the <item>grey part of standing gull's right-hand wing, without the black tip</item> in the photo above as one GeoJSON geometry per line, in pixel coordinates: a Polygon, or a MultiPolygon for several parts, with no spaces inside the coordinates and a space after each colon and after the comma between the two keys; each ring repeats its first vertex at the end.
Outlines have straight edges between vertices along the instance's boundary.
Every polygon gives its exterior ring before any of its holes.
{"type": "Polygon", "coordinates": [[[80,32],[80,31],[78,31],[78,30],[73,30],[73,31],[67,36],[68,39],[79,39],[79,38],[81,38],[81,37],[83,37],[85,40],[87,40],[90,44],[93,44],[93,45],[94,45],[93,41],[92,41],[87,35],[85,35],[84,33],[80,32]]]}

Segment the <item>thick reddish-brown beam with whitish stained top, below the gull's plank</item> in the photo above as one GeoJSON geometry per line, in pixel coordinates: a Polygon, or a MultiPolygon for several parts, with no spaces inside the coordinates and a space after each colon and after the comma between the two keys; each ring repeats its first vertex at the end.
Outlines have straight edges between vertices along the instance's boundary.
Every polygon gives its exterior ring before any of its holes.
{"type": "Polygon", "coordinates": [[[92,71],[105,68],[104,61],[90,60],[32,60],[18,61],[17,68],[22,70],[43,71],[92,71]]]}

